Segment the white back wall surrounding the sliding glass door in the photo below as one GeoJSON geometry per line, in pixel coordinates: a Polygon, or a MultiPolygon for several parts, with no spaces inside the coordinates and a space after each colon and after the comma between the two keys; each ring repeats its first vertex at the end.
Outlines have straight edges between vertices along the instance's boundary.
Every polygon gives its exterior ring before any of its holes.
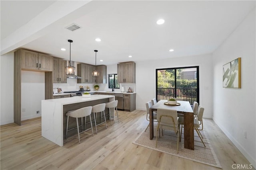
{"type": "Polygon", "coordinates": [[[204,117],[212,118],[212,55],[178,57],[136,62],[136,109],[146,110],[145,103],[156,98],[156,68],[199,66],[200,105],[204,117]]]}

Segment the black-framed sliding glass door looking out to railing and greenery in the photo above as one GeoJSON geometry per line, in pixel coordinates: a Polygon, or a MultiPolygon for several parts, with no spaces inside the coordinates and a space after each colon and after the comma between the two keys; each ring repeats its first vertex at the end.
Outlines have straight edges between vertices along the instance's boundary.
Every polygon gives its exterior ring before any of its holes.
{"type": "Polygon", "coordinates": [[[156,69],[156,98],[199,103],[199,66],[156,69]]]}

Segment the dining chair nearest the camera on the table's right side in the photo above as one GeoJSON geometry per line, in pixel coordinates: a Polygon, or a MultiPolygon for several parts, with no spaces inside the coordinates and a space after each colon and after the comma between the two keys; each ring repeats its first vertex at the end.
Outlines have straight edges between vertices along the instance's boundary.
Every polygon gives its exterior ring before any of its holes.
{"type": "MultiPolygon", "coordinates": [[[[203,136],[202,134],[200,133],[199,131],[199,127],[200,127],[200,124],[202,123],[202,120],[203,120],[203,114],[204,114],[204,108],[201,107],[201,106],[198,106],[198,111],[197,111],[197,115],[198,117],[196,117],[194,119],[194,129],[196,130],[196,133],[198,134],[198,136],[200,137],[202,143],[204,144],[204,141],[203,141],[203,136]],[[199,120],[200,121],[199,121],[199,120]]],[[[181,135],[182,135],[182,127],[184,127],[184,117],[179,117],[178,118],[178,121],[179,121],[179,125],[180,125],[180,141],[181,141],[181,135]],[[182,126],[183,125],[183,126],[182,126]]],[[[204,145],[205,147],[205,145],[204,145]]]]}

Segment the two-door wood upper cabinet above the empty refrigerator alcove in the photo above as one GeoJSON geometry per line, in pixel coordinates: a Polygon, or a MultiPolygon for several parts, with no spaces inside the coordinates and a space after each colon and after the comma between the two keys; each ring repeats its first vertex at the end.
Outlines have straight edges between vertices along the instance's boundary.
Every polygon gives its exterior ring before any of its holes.
{"type": "Polygon", "coordinates": [[[46,54],[20,49],[21,69],[33,71],[52,71],[53,57],[46,54]]]}

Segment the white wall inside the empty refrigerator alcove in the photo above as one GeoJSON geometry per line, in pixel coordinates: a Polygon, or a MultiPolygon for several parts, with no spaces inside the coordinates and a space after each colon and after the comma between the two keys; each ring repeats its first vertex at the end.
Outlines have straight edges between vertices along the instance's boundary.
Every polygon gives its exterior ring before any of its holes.
{"type": "Polygon", "coordinates": [[[22,70],[21,120],[40,117],[42,100],[44,100],[44,72],[22,70]],[[25,109],[25,111],[22,109],[25,109]],[[36,111],[39,111],[39,114],[36,111]]]}

